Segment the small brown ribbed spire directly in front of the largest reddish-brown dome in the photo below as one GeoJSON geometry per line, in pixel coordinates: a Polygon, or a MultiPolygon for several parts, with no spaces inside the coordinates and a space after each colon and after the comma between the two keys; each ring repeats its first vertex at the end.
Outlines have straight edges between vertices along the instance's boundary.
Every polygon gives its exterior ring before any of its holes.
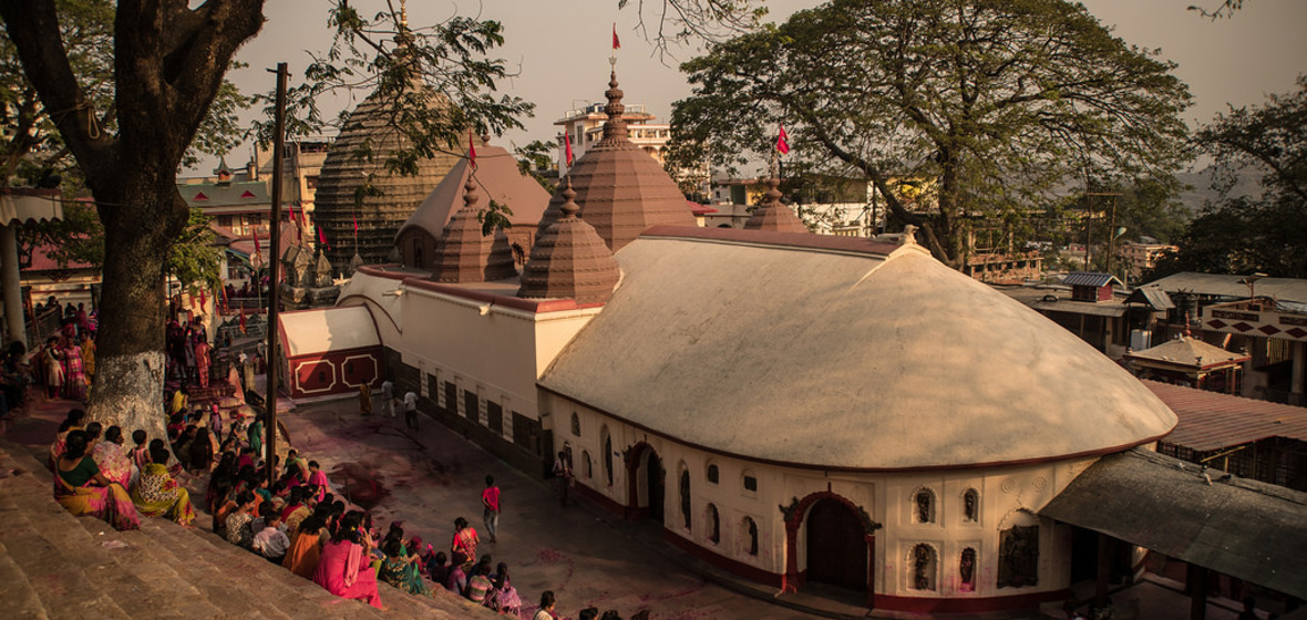
{"type": "Polygon", "coordinates": [[[608,302],[621,274],[617,260],[595,227],[576,217],[580,208],[570,180],[562,196],[562,217],[531,248],[518,296],[571,298],[580,304],[608,302]]]}

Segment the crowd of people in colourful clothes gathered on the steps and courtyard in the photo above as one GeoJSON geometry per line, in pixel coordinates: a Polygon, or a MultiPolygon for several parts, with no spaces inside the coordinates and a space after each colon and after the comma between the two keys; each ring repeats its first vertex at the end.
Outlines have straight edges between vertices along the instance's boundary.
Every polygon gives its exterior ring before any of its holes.
{"type": "MultiPolygon", "coordinates": [[[[30,356],[18,343],[5,351],[0,368],[0,414],[20,406],[25,388],[41,384],[46,397],[85,402],[94,376],[94,322],[82,311],[30,356]]],[[[478,553],[481,538],[467,518],[454,521],[448,550],[423,544],[406,535],[404,523],[392,522],[382,533],[367,512],[350,509],[332,493],[327,474],[316,461],[291,449],[285,462],[265,454],[261,415],[248,420],[233,412],[225,419],[220,407],[191,409],[188,386],[204,388],[209,377],[212,349],[203,326],[167,326],[167,379],[162,415],[166,436],[150,437],[145,429],[128,436],[118,426],[90,422],[86,412],[71,409],[50,448],[54,496],[73,516],[101,518],[115,529],[139,529],[141,517],[167,518],[192,527],[196,510],[183,483],[208,475],[203,508],[212,516],[212,529],[229,543],[280,564],[311,580],[335,595],[382,606],[379,586],[418,597],[434,597],[440,589],[507,616],[520,617],[523,600],[512,585],[508,565],[478,553]],[[128,446],[128,439],[132,445],[128,446]],[[271,458],[277,478],[265,474],[271,458]]],[[[242,377],[244,379],[244,377],[242,377]]],[[[401,401],[405,424],[417,429],[417,398],[409,392],[396,398],[393,384],[383,385],[384,411],[396,415],[401,401]]],[[[370,412],[371,394],[361,394],[370,412]]],[[[493,476],[485,478],[481,493],[482,522],[490,543],[497,542],[501,493],[493,476]]],[[[553,591],[540,599],[532,620],[553,620],[553,591]]],[[[600,619],[597,610],[582,610],[579,620],[600,619]]],[[[620,620],[616,611],[601,620],[620,620]]]]}

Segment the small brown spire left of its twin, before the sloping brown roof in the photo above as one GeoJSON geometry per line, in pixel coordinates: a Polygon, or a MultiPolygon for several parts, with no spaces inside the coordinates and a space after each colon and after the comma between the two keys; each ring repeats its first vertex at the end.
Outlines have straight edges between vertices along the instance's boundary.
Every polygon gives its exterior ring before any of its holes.
{"type": "Polygon", "coordinates": [[[503,228],[495,228],[494,235],[481,234],[477,219],[477,184],[468,175],[463,185],[463,208],[450,223],[444,225],[439,247],[431,260],[431,279],[437,282],[493,282],[512,278],[518,274],[514,266],[512,248],[503,228]]]}

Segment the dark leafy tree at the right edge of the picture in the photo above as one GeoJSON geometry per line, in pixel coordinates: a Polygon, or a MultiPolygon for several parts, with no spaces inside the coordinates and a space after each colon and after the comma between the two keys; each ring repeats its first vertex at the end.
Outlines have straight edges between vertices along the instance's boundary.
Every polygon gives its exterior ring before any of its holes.
{"type": "Polygon", "coordinates": [[[1154,277],[1176,271],[1307,278],[1307,77],[1263,106],[1231,108],[1197,133],[1216,162],[1216,189],[1154,277]],[[1234,194],[1240,174],[1261,172],[1261,194],[1234,194]]]}

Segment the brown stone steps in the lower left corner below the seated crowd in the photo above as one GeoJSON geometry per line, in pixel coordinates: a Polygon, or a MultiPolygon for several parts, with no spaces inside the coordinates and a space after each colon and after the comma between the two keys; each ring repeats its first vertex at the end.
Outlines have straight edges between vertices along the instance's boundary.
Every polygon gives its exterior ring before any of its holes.
{"type": "MultiPolygon", "coordinates": [[[[7,619],[495,619],[438,590],[382,585],[387,611],[345,600],[208,531],[144,518],[139,531],[68,514],[51,474],[0,441],[0,616],[7,619]]],[[[201,517],[203,518],[203,517],[201,517]]]]}

